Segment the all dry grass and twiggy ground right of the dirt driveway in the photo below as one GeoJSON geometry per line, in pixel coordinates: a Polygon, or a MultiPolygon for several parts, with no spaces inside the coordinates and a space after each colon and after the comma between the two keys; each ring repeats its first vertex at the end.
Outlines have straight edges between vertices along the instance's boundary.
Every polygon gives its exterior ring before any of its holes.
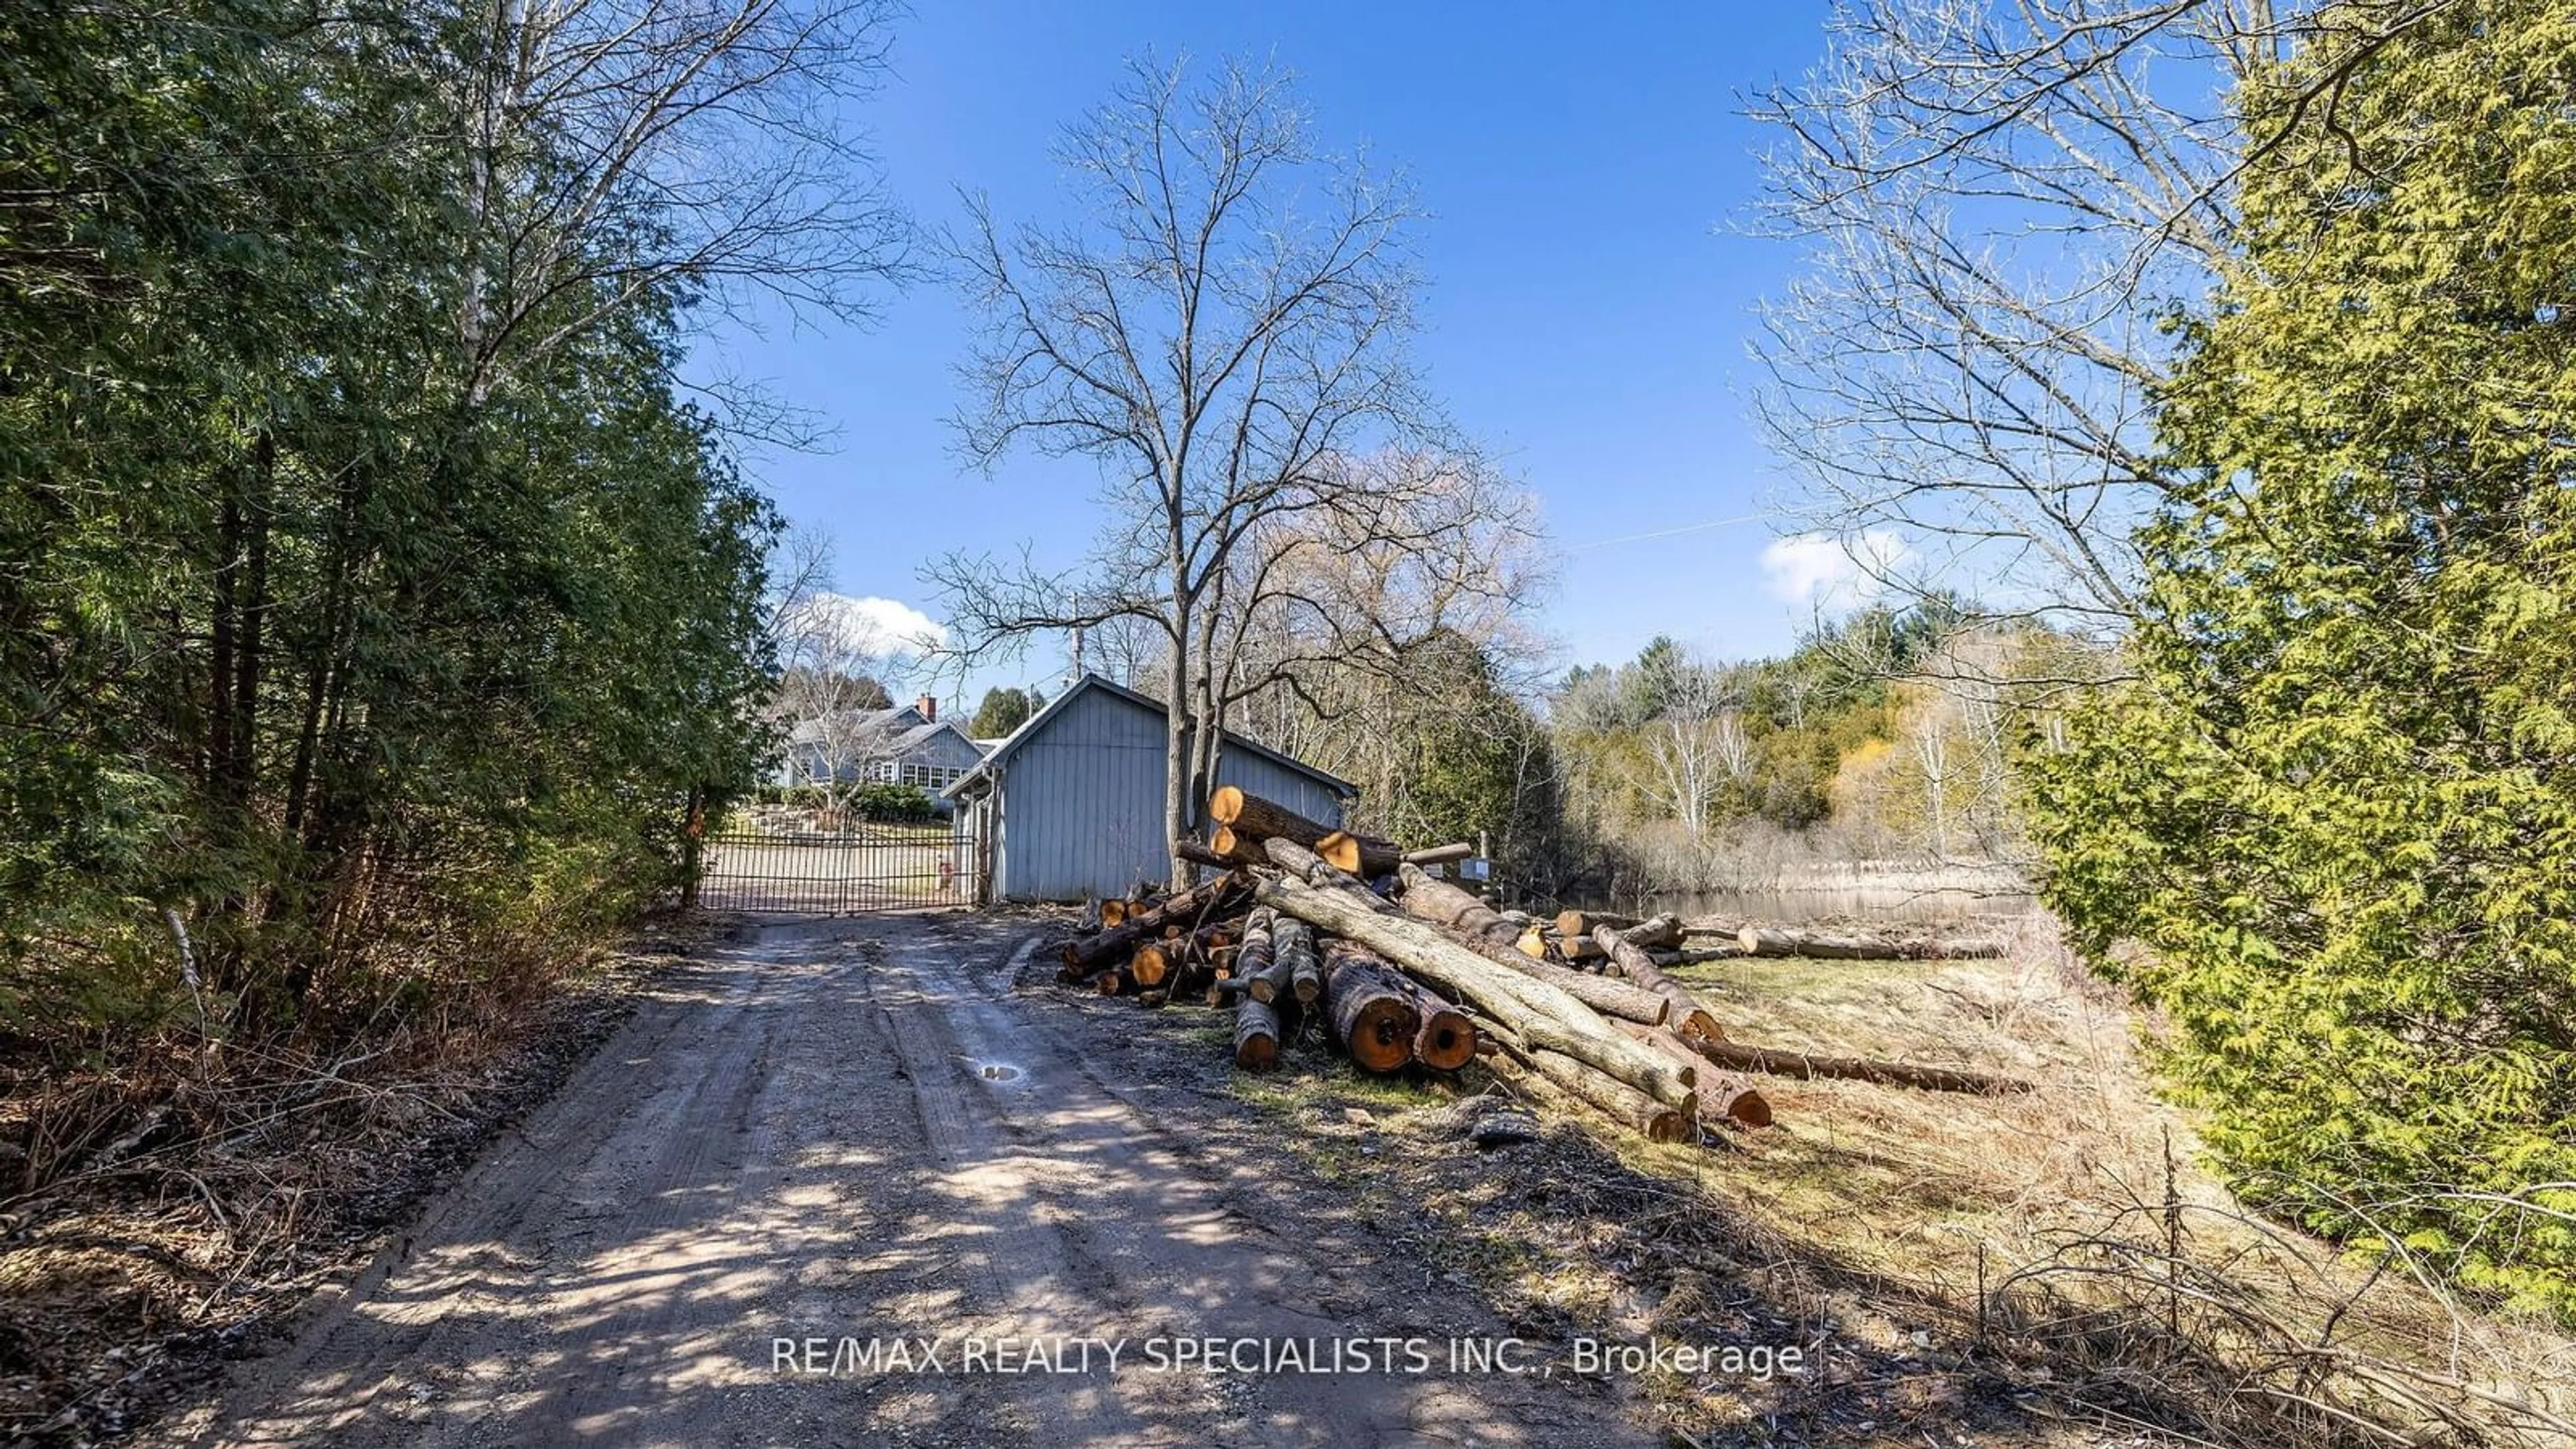
{"type": "Polygon", "coordinates": [[[1765,1078],[1770,1132],[1656,1147],[1556,1124],[1497,1155],[1445,1140],[1437,1091],[1319,1052],[1234,1091],[1370,1212],[1425,1220],[1427,1269],[1530,1333],[1829,1343],[1798,1382],[1649,1379],[1677,1441],[2576,1444],[2566,1336],[2251,1217],[2195,1168],[2130,1013],[2045,923],[2002,962],[1677,975],[1739,1039],[2038,1091],[1765,1078]]]}

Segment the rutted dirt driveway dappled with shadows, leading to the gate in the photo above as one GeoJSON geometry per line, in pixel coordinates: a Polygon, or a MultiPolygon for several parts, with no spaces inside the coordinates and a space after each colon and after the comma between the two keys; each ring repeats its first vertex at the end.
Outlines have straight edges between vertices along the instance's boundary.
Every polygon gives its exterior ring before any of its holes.
{"type": "Polygon", "coordinates": [[[1285,1152],[1208,1129],[1203,1093],[1121,1070],[1100,1018],[1038,985],[1033,944],[1012,920],[878,918],[665,977],[407,1240],[162,1439],[1651,1441],[1602,1382],[1450,1374],[1450,1338],[1510,1328],[1285,1152]],[[1399,1372],[1211,1374],[1180,1366],[1200,1336],[1419,1346],[1358,1348],[1399,1372]],[[925,1338],[940,1369],[907,1372],[894,1343],[920,1359],[925,1338]],[[853,1364],[871,1341],[876,1369],[853,1364]],[[1118,1372],[1108,1343],[1082,1372],[1072,1341],[1126,1341],[1118,1372]],[[1401,1372],[1417,1348],[1432,1369],[1401,1372]],[[1030,1351],[1066,1372],[1002,1372],[1030,1351]]]}

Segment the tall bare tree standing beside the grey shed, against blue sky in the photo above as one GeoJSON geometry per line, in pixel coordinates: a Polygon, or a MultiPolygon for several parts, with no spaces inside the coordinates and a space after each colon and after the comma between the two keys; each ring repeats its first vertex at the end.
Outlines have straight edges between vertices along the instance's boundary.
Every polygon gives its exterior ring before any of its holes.
{"type": "Polygon", "coordinates": [[[1005,232],[976,199],[951,248],[987,320],[961,436],[981,464],[1092,459],[1103,536],[1072,575],[953,554],[930,580],[969,655],[1110,619],[1162,634],[1177,841],[1242,683],[1229,624],[1262,590],[1265,541],[1376,536],[1386,477],[1352,459],[1443,433],[1406,356],[1417,209],[1321,152],[1275,72],[1190,85],[1139,64],[1059,157],[1087,229],[1005,232]]]}

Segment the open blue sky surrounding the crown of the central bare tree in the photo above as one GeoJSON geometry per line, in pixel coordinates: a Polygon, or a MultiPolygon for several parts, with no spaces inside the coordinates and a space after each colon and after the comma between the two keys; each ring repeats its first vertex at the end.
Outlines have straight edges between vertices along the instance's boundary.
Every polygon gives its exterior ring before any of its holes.
{"type": "MultiPolygon", "coordinates": [[[[1417,353],[1455,418],[1543,500],[1564,567],[1543,627],[1561,663],[1620,660],[1654,634],[1747,657],[1790,645],[1762,513],[1785,487],[1747,420],[1752,304],[1795,266],[1749,217],[1767,134],[1741,95],[1803,72],[1821,3],[1783,5],[1002,5],[922,3],[866,126],[922,224],[956,188],[997,217],[1061,217],[1056,131],[1128,57],[1275,59],[1327,142],[1412,173],[1422,229],[1417,353]],[[1667,534],[1641,539],[1643,534],[1667,534]],[[1615,547],[1597,547],[1625,539],[1615,547]]],[[[958,464],[948,418],[961,302],[889,297],[876,327],[724,330],[703,366],[760,379],[835,428],[827,454],[762,454],[788,518],[837,539],[837,588],[933,608],[917,570],[953,547],[1072,562],[1095,531],[1090,464],[958,464]]],[[[1777,554],[1772,559],[1780,562],[1777,554]]],[[[1806,559],[1814,565],[1814,559],[1806,559]]],[[[933,608],[935,614],[935,608],[933,608]]],[[[1061,673],[1061,650],[979,670],[1061,673]]],[[[943,691],[945,694],[945,691],[943,691]]]]}

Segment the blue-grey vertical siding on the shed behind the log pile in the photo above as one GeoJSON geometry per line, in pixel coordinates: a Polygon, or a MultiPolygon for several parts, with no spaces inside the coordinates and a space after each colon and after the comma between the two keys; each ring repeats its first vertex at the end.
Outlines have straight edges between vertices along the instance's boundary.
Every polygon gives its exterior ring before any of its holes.
{"type": "MultiPolygon", "coordinates": [[[[1309,820],[1342,822],[1342,799],[1324,781],[1249,750],[1224,750],[1216,779],[1309,820]]],[[[1157,709],[1084,688],[1010,755],[999,797],[992,890],[1002,900],[1123,895],[1170,869],[1157,709]]]]}

